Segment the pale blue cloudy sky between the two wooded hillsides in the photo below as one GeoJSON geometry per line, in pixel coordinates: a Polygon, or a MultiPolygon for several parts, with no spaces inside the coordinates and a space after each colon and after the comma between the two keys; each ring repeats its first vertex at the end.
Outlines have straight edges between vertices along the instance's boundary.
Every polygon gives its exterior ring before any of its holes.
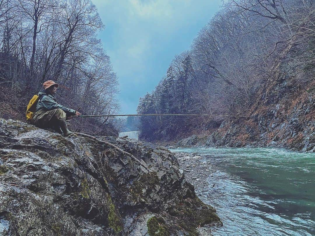
{"type": "Polygon", "coordinates": [[[119,80],[122,114],[136,114],[175,55],[190,48],[221,0],[92,0],[105,29],[99,33],[119,80]]]}

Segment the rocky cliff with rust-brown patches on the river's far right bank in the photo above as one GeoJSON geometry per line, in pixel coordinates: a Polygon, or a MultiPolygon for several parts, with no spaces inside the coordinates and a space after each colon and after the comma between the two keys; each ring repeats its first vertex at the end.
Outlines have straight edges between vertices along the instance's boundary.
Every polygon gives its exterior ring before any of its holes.
{"type": "Polygon", "coordinates": [[[193,135],[175,146],[284,147],[314,152],[315,80],[300,83],[303,71],[288,51],[275,64],[272,80],[241,114],[256,118],[223,121],[208,138],[193,135]]]}

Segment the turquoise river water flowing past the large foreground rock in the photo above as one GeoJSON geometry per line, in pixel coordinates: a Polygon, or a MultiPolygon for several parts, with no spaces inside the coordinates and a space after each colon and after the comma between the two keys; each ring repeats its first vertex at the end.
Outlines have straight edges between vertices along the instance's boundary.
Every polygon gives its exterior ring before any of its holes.
{"type": "Polygon", "coordinates": [[[171,151],[208,160],[209,188],[196,192],[223,222],[214,236],[315,235],[315,154],[273,148],[171,151]]]}

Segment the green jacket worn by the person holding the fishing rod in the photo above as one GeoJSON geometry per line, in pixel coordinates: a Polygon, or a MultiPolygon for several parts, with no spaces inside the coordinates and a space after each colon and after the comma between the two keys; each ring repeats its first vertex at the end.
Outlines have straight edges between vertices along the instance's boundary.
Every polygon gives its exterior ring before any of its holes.
{"type": "Polygon", "coordinates": [[[53,95],[47,95],[44,90],[38,93],[39,101],[37,102],[36,112],[45,109],[46,111],[60,108],[69,115],[75,115],[76,111],[57,103],[57,99],[53,95]]]}

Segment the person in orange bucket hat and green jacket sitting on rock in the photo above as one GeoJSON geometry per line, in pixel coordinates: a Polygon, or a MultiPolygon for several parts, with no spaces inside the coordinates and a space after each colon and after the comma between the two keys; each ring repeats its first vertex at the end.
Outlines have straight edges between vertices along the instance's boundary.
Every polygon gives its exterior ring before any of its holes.
{"type": "Polygon", "coordinates": [[[59,84],[52,80],[43,83],[43,89],[38,93],[39,100],[36,112],[32,118],[34,125],[40,128],[55,128],[63,132],[65,137],[70,137],[74,133],[69,131],[66,118],[71,115],[81,115],[78,111],[67,108],[57,103],[54,94],[57,92],[59,84]]]}

